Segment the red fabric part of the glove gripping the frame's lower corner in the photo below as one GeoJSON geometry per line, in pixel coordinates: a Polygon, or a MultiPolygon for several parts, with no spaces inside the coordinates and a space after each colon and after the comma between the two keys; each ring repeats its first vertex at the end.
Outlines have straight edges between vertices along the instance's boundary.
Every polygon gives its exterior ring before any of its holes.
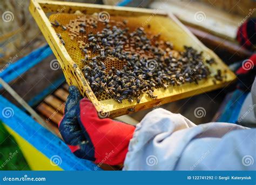
{"type": "Polygon", "coordinates": [[[90,100],[80,101],[80,120],[95,148],[96,163],[124,162],[135,127],[112,119],[100,119],[90,100]]]}

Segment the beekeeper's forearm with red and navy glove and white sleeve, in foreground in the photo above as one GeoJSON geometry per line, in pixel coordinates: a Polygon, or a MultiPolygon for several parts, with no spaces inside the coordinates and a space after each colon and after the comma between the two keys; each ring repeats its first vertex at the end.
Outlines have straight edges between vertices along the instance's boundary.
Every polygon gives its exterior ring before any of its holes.
{"type": "Polygon", "coordinates": [[[161,108],[134,129],[99,118],[92,103],[70,87],[59,130],[80,158],[109,165],[124,162],[124,170],[255,169],[255,164],[243,163],[248,162],[243,157],[255,159],[254,129],[226,123],[196,126],[161,108]]]}

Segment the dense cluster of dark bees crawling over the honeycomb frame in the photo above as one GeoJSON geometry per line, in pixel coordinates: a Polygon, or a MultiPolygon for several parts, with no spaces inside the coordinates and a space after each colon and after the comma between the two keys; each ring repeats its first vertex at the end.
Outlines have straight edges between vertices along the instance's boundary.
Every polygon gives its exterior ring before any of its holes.
{"type": "MultiPolygon", "coordinates": [[[[184,83],[196,83],[210,76],[209,65],[214,59],[205,59],[202,52],[184,46],[184,51],[173,50],[173,45],[160,39],[160,35],[149,35],[144,28],[130,31],[124,26],[105,23],[97,33],[84,31],[79,24],[80,33],[88,40],[80,49],[85,54],[83,72],[95,93],[106,93],[122,103],[140,102],[141,95],[146,93],[155,99],[154,89],[169,86],[180,86],[184,83]],[[91,57],[92,54],[95,57],[91,57]],[[115,58],[123,61],[122,68],[107,68],[104,61],[115,58]]],[[[219,70],[216,80],[223,80],[219,70]]]]}

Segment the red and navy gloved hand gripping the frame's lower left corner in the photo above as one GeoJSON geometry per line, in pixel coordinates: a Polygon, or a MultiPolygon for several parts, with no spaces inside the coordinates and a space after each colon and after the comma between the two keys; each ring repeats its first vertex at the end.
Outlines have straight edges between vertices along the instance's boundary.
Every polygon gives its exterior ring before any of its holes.
{"type": "Polygon", "coordinates": [[[69,87],[65,115],[59,131],[76,156],[108,165],[124,162],[135,127],[101,119],[89,99],[81,97],[77,87],[69,87]]]}

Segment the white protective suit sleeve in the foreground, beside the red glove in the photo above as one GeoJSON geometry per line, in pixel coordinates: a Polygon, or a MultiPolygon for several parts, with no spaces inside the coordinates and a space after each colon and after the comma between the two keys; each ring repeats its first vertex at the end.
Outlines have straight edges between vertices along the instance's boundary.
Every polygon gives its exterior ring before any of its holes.
{"type": "Polygon", "coordinates": [[[256,129],[195,125],[158,108],[136,126],[123,170],[256,170],[256,129]]]}

